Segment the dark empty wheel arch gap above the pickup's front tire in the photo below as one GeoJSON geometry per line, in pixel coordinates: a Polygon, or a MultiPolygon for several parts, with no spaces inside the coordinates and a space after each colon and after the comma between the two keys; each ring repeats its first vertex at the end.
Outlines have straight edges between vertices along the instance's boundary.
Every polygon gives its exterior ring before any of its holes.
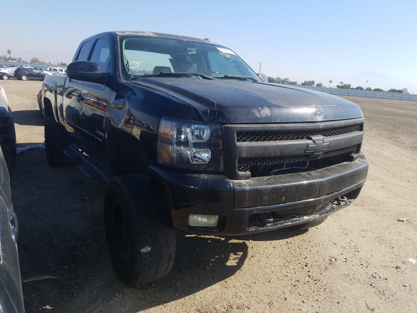
{"type": "Polygon", "coordinates": [[[108,135],[110,166],[114,175],[148,171],[149,157],[133,135],[113,127],[108,135]]]}

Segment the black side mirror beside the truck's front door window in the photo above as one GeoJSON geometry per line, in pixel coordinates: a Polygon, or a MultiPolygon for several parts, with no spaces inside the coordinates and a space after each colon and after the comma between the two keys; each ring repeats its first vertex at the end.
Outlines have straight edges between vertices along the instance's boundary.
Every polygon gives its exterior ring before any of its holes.
{"type": "Polygon", "coordinates": [[[104,84],[108,73],[100,73],[100,66],[90,61],[75,61],[67,66],[67,76],[77,81],[104,84]]]}

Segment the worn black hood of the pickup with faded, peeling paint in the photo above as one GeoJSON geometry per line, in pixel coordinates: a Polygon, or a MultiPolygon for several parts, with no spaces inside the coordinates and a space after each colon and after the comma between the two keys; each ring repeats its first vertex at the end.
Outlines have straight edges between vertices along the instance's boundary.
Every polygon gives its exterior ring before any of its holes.
{"type": "Polygon", "coordinates": [[[351,101],[286,85],[166,77],[140,78],[131,83],[189,103],[206,122],[294,123],[363,117],[359,106],[351,101]]]}

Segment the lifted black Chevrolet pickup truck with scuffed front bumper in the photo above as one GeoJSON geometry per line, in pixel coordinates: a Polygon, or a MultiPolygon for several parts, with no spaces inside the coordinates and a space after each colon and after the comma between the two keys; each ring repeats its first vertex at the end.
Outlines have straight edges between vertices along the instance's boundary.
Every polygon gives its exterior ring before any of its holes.
{"type": "Polygon", "coordinates": [[[41,92],[48,162],[80,159],[108,184],[106,239],[130,286],[171,270],[176,231],[313,227],[367,176],[359,106],[265,83],[208,39],[100,33],[41,92]]]}

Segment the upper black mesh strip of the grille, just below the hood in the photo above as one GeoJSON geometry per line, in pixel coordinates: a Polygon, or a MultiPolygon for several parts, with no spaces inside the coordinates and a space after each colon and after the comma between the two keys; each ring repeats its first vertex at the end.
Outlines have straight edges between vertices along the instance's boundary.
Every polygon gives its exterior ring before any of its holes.
{"type": "Polygon", "coordinates": [[[362,129],[363,124],[361,123],[351,126],[302,131],[241,131],[236,134],[236,140],[237,142],[297,140],[317,135],[327,137],[349,134],[354,131],[362,131],[362,129]]]}

